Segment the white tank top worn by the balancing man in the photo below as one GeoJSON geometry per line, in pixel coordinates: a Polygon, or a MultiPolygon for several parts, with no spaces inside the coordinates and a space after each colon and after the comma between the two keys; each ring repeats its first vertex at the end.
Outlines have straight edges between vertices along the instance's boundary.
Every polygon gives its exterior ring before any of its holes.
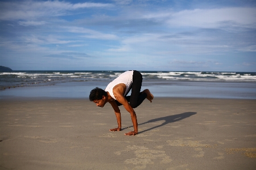
{"type": "Polygon", "coordinates": [[[133,71],[125,71],[125,73],[120,74],[117,78],[115,78],[112,82],[109,83],[105,91],[109,92],[110,96],[113,97],[113,99],[115,99],[115,96],[113,94],[113,88],[117,84],[121,84],[121,83],[125,84],[126,86],[125,94],[123,95],[125,96],[128,93],[131,87],[131,84],[133,83],[133,71]]]}

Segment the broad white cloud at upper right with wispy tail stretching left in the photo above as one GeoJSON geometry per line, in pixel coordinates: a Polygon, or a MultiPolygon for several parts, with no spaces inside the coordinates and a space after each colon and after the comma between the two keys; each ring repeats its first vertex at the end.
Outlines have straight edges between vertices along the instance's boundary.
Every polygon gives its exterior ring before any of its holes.
{"type": "Polygon", "coordinates": [[[227,7],[181,10],[174,12],[171,8],[159,11],[138,11],[130,9],[131,14],[123,15],[126,19],[146,19],[166,23],[169,27],[219,28],[253,27],[256,28],[255,7],[227,7]]]}

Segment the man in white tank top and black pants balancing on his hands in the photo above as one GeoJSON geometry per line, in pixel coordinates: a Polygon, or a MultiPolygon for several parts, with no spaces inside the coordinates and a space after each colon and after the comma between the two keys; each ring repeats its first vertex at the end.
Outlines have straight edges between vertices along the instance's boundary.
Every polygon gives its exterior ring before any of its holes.
{"type": "Polygon", "coordinates": [[[154,96],[148,89],[141,92],[142,75],[139,71],[125,71],[116,79],[109,83],[105,90],[101,88],[94,88],[90,92],[89,99],[96,103],[98,107],[104,107],[108,102],[112,105],[115,116],[117,117],[118,128],[110,129],[110,131],[121,131],[121,112],[118,108],[123,105],[126,111],[131,114],[131,121],[133,122],[134,131],[125,133],[125,135],[138,134],[138,123],[136,113],[133,108],[137,108],[144,99],[152,102],[154,96]],[[131,90],[131,95],[126,96],[131,90]],[[129,103],[130,102],[130,103],[129,103]]]}

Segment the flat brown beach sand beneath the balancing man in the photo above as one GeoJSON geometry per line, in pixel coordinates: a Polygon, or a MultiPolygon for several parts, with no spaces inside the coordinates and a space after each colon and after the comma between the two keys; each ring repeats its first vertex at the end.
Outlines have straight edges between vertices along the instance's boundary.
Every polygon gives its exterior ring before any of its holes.
{"type": "Polygon", "coordinates": [[[0,100],[0,169],[256,169],[256,100],[155,97],[135,109],[88,99],[0,100]]]}

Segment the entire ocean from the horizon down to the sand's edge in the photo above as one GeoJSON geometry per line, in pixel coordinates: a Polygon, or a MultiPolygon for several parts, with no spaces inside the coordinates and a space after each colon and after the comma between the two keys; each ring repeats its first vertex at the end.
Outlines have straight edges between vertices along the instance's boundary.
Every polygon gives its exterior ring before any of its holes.
{"type": "MultiPolygon", "coordinates": [[[[0,73],[0,99],[11,97],[88,98],[124,71],[13,71],[0,73]]],[[[142,90],[155,97],[256,99],[256,73],[140,71],[142,90]]]]}

